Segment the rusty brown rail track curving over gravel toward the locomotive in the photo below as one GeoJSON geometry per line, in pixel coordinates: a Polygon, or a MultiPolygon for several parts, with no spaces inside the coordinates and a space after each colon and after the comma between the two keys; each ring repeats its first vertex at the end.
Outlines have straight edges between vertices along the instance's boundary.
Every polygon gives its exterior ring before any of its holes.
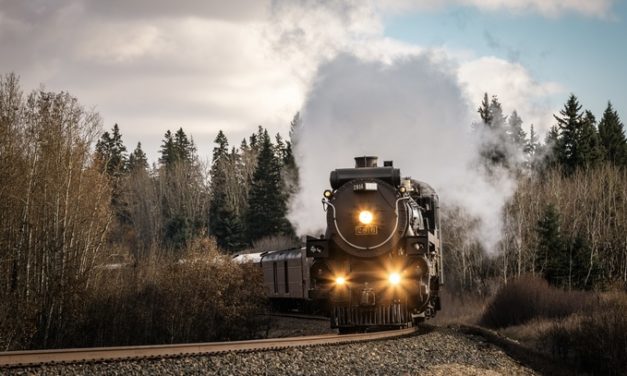
{"type": "Polygon", "coordinates": [[[418,328],[413,327],[374,333],[360,333],[349,335],[325,334],[318,336],[271,338],[233,342],[11,351],[0,353],[0,369],[25,366],[40,366],[44,364],[171,358],[181,356],[211,355],[231,351],[274,350],[289,347],[354,343],[407,336],[415,333],[417,329],[418,328]]]}

